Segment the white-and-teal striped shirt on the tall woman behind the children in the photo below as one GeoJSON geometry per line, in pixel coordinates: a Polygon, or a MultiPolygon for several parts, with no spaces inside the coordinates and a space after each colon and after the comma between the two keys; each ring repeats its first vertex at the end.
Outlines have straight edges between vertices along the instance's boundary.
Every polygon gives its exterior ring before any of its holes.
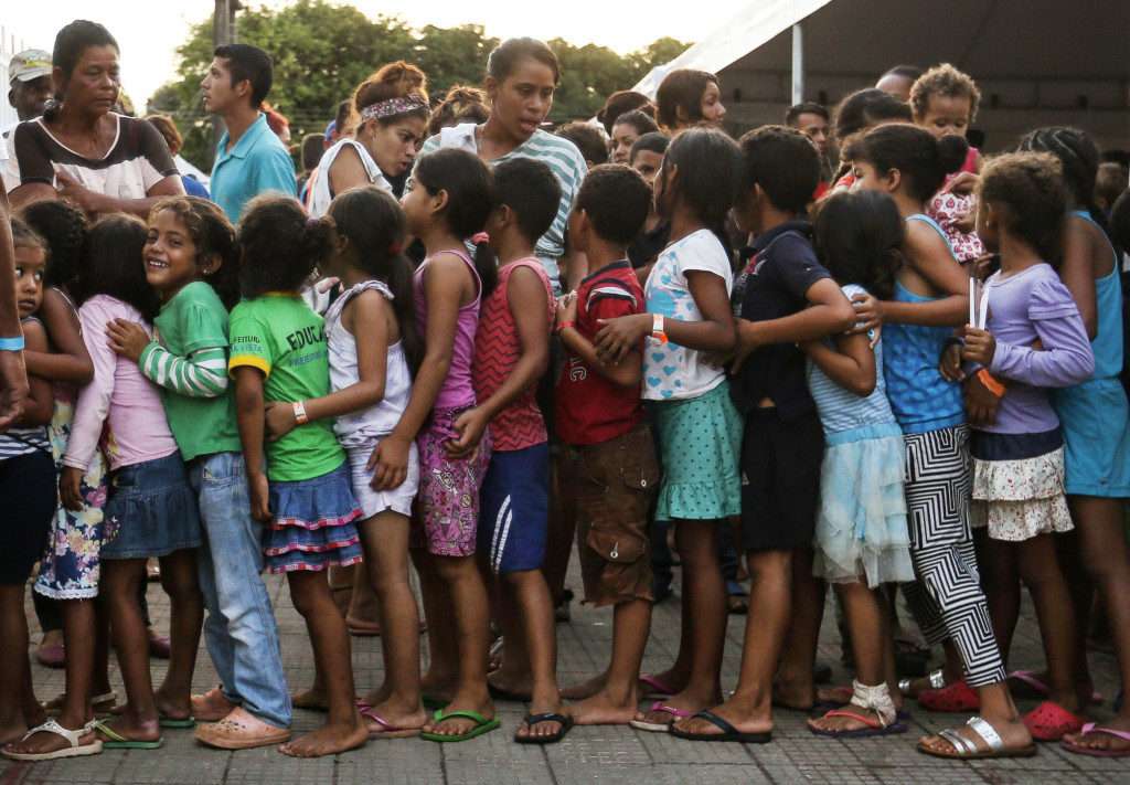
{"type": "MultiPolygon", "coordinates": [[[[441,147],[458,147],[478,155],[479,146],[475,139],[473,122],[444,128],[440,133],[433,136],[424,143],[420,155],[437,150],[441,147]]],[[[562,293],[560,273],[557,270],[557,259],[565,252],[565,233],[568,227],[568,214],[573,209],[573,199],[577,189],[581,188],[581,180],[589,171],[584,163],[584,156],[568,139],[554,136],[538,129],[521,145],[512,149],[506,155],[499,156],[488,162],[492,166],[501,164],[511,158],[533,158],[549,166],[557,182],[562,187],[562,200],[557,205],[557,217],[549,226],[549,231],[538,239],[536,248],[538,261],[546,268],[546,275],[554,286],[554,294],[562,293]]]]}

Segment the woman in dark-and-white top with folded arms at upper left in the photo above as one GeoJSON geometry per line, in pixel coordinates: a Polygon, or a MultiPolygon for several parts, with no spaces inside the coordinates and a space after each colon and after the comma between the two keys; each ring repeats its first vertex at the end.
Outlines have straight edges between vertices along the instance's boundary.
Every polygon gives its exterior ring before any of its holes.
{"type": "Polygon", "coordinates": [[[121,77],[110,31],[72,21],[55,36],[52,62],[55,97],[12,131],[5,172],[12,207],[66,197],[90,214],[147,217],[162,198],[184,193],[157,129],[111,111],[121,77]]]}

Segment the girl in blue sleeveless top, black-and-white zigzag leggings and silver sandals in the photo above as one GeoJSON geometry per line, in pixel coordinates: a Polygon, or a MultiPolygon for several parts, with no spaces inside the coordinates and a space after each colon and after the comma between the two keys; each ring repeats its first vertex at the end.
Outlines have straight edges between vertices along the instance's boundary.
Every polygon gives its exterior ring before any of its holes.
{"type": "Polygon", "coordinates": [[[919,701],[927,708],[981,709],[966,725],[922,739],[919,750],[942,758],[1029,756],[1035,748],[1005,683],[979,583],[962,392],[938,373],[951,328],[967,318],[970,278],[945,232],[923,210],[967,149],[953,133],[936,139],[901,124],[881,126],[849,143],[844,155],[855,176],[852,188],[889,193],[906,223],[905,262],[893,299],[857,294],[852,302],[857,330],[885,322],[883,365],[890,408],[906,442],[906,506],[918,576],[905,594],[927,640],[945,641],[945,676],[953,680],[936,692],[922,692],[919,701]]]}

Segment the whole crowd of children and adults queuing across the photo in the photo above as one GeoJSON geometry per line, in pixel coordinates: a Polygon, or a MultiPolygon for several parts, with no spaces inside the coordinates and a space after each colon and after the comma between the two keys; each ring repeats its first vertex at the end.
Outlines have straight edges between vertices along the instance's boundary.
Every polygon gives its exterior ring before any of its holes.
{"type": "Polygon", "coordinates": [[[193,726],[293,757],[463,741],[499,700],[529,706],[519,743],[602,724],[766,743],[774,711],[814,709],[815,734],[881,736],[916,700],[975,715],[927,754],[1130,757],[1130,701],[1088,721],[1096,598],[1130,683],[1130,197],[1087,133],[982,156],[977,87],[946,63],[737,140],[719,77],[685,69],[549,132],[557,60],[512,38],[442,102],[418,67],[380,68],[303,140],[299,179],[264,109],[270,55],[214,55],[207,178],[172,121],[115,109],[103,26],[12,63],[5,757],[193,726]],[[614,633],[607,667],[563,685],[574,547],[614,633]],[[151,560],[171,603],[156,688],[151,560]],[[678,654],[641,673],[675,564],[678,654]],[[301,690],[264,568],[306,623],[301,690]],[[45,704],[33,573],[66,652],[45,704]],[[818,690],[829,584],[855,675],[818,690]],[[1046,667],[1009,673],[1022,584],[1046,667]],[[942,668],[907,667],[924,646],[906,650],[898,592],[942,668]],[[728,612],[747,613],[732,685],[728,612]],[[350,658],[376,632],[380,683],[350,658]],[[220,683],[192,695],[201,633],[220,683]],[[296,708],[324,724],[292,739],[296,708]]]}

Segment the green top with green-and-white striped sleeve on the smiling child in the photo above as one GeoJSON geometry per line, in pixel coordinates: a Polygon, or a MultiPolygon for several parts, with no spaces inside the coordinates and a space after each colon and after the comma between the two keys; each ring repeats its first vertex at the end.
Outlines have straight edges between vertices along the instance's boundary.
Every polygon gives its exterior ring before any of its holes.
{"type": "Polygon", "coordinates": [[[227,309],[219,295],[203,281],[188,284],[162,307],[154,327],[154,343],[138,364],[160,386],[181,456],[192,460],[214,452],[238,452],[235,392],[224,385],[227,309]]]}

